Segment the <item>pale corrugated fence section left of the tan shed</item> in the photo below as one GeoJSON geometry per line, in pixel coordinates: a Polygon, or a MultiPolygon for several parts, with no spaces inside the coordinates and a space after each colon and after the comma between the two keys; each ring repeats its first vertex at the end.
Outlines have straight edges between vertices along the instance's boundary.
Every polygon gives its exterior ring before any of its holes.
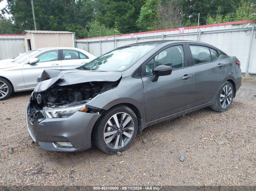
{"type": "Polygon", "coordinates": [[[0,60],[15,58],[20,53],[25,53],[24,35],[0,34],[0,60]]]}

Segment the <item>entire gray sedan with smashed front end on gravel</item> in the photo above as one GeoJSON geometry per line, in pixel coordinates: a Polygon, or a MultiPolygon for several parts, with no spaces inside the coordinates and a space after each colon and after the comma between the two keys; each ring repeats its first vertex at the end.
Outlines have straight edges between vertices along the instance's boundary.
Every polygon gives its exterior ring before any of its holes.
{"type": "Polygon", "coordinates": [[[240,62],[194,41],[114,49],[73,70],[45,70],[28,100],[28,132],[42,149],[115,154],[151,125],[210,106],[224,112],[241,86],[240,62]]]}

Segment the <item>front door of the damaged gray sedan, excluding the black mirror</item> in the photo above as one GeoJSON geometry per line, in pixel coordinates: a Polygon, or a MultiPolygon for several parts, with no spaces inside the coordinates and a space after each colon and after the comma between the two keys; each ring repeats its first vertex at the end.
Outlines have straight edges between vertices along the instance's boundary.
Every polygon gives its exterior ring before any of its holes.
{"type": "Polygon", "coordinates": [[[145,64],[142,72],[147,122],[191,108],[193,101],[193,70],[184,54],[185,44],[171,46],[145,64]],[[158,65],[171,66],[171,75],[160,76],[152,82],[152,69],[158,65]]]}

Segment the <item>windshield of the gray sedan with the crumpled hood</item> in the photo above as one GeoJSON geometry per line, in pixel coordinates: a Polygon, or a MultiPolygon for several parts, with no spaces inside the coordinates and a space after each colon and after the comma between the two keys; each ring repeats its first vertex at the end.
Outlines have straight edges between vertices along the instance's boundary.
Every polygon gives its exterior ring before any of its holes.
{"type": "Polygon", "coordinates": [[[122,72],[154,47],[152,45],[120,47],[86,63],[81,69],[122,72]]]}

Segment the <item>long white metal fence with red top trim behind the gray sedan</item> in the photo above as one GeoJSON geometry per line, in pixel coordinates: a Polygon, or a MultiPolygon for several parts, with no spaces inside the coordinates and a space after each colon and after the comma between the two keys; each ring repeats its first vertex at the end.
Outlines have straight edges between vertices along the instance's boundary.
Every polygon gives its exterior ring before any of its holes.
{"type": "Polygon", "coordinates": [[[183,29],[123,34],[115,37],[77,39],[76,46],[95,56],[100,56],[101,54],[114,49],[114,47],[117,48],[136,42],[152,40],[196,41],[198,34],[198,41],[216,46],[230,56],[236,56],[241,61],[241,69],[244,73],[246,72],[247,63],[249,61],[249,73],[256,74],[256,42],[255,35],[253,34],[254,30],[252,30],[255,22],[256,21],[237,21],[202,25],[199,26],[199,33],[197,33],[197,27],[185,27],[183,29]]]}

